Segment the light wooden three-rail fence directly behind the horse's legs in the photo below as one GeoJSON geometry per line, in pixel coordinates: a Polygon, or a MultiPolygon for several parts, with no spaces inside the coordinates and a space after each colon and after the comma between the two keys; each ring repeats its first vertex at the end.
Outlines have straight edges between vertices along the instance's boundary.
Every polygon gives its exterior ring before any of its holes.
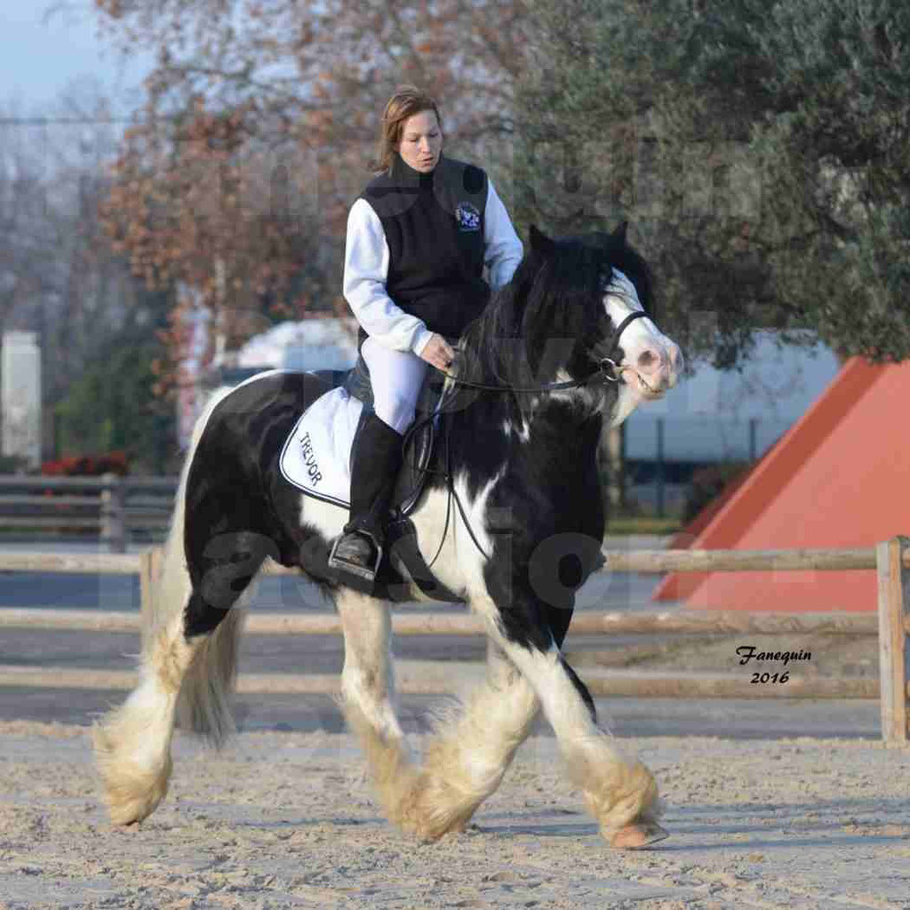
{"type": "MultiPolygon", "coordinates": [[[[908,742],[908,636],[910,636],[910,539],[893,538],[875,549],[799,551],[605,551],[611,571],[662,574],[667,571],[844,571],[875,570],[878,577],[878,610],[874,613],[749,613],[689,612],[578,612],[571,634],[647,634],[656,632],[794,634],[821,632],[832,635],[876,635],[879,642],[879,682],[809,679],[792,674],[785,685],[755,686],[747,679],[672,673],[616,672],[587,680],[598,696],[662,697],[799,697],[878,698],[881,703],[885,743],[908,742]]],[[[147,609],[159,551],[136,555],[51,553],[0,554],[0,571],[38,572],[138,572],[143,610],[147,609]]],[[[270,564],[272,574],[294,570],[270,564]]],[[[0,609],[0,628],[67,629],[92,632],[137,632],[139,612],[79,610],[0,609]]],[[[408,614],[396,612],[392,627],[399,635],[482,634],[480,619],[456,611],[408,614]]],[[[339,617],[316,615],[252,614],[247,632],[252,634],[340,634],[339,617]]],[[[430,674],[430,679],[405,677],[403,693],[448,691],[450,673],[430,674]]],[[[0,685],[45,688],[129,689],[135,673],[102,670],[66,671],[57,668],[0,665],[0,685]]],[[[338,680],[326,676],[246,674],[238,682],[240,693],[330,693],[338,680]]]]}

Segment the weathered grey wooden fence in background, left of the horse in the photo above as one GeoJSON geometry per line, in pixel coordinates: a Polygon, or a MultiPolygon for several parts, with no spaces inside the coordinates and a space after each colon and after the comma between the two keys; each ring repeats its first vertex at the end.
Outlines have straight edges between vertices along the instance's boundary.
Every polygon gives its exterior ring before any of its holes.
{"type": "Polygon", "coordinates": [[[176,491],[176,477],[0,475],[0,540],[87,538],[123,553],[131,540],[163,539],[176,491]]]}

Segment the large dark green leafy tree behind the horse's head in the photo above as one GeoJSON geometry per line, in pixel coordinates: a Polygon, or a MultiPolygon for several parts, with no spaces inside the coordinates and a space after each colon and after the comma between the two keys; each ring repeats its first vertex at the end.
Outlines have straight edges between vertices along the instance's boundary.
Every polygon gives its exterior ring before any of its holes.
{"type": "Polygon", "coordinates": [[[718,366],[762,327],[910,356],[910,8],[529,8],[550,55],[519,96],[525,217],[562,229],[628,217],[664,321],[718,366]],[[560,172],[561,193],[541,192],[560,172]]]}

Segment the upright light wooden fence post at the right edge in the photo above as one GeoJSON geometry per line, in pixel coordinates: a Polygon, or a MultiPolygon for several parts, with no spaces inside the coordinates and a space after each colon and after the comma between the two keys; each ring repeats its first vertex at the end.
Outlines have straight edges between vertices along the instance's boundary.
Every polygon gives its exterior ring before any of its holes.
{"type": "Polygon", "coordinates": [[[907,634],[910,573],[904,553],[910,538],[893,537],[875,548],[878,565],[878,660],[882,681],[882,739],[907,744],[907,634]]]}

